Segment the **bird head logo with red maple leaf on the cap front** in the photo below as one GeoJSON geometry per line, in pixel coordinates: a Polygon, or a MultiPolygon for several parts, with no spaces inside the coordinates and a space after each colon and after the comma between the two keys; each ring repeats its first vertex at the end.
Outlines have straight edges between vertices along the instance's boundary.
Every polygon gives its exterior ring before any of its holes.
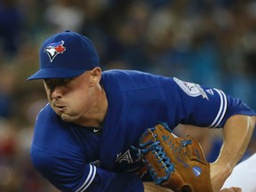
{"type": "Polygon", "coordinates": [[[46,52],[49,56],[49,59],[54,60],[54,58],[60,54],[66,51],[66,47],[63,46],[64,41],[60,41],[57,43],[52,43],[52,44],[48,44],[45,48],[44,48],[44,52],[46,52]]]}

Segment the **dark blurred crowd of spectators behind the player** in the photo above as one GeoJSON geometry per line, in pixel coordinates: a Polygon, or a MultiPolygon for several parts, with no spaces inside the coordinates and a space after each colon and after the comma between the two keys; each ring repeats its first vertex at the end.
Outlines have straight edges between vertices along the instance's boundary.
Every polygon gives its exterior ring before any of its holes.
{"type": "MultiPolygon", "coordinates": [[[[1,192],[57,191],[30,162],[36,114],[47,101],[42,81],[26,79],[44,39],[66,29],[92,39],[103,70],[177,76],[256,108],[256,1],[0,0],[1,192]]],[[[191,130],[214,161],[220,132],[191,130]]]]}

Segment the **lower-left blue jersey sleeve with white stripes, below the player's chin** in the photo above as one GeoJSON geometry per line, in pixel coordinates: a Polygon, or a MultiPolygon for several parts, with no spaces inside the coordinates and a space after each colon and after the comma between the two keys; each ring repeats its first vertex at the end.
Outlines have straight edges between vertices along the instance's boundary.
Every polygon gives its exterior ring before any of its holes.
{"type": "Polygon", "coordinates": [[[46,180],[61,191],[143,192],[140,178],[128,173],[109,172],[82,160],[52,156],[31,147],[32,162],[46,180]]]}

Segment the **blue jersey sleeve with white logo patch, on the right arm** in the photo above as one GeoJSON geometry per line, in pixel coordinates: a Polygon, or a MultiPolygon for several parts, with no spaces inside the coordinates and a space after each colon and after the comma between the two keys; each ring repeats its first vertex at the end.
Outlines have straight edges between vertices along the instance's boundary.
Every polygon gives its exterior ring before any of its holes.
{"type": "Polygon", "coordinates": [[[219,89],[182,81],[176,77],[164,84],[168,118],[175,124],[220,128],[228,117],[255,116],[255,111],[242,100],[219,89]]]}

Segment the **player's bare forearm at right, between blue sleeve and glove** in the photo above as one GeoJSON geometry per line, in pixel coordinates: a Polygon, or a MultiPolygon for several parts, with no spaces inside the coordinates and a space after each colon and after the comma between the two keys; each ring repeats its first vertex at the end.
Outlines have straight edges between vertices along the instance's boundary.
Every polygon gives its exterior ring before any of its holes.
{"type": "Polygon", "coordinates": [[[225,180],[244,155],[252,137],[255,116],[231,116],[223,127],[223,145],[217,160],[211,164],[214,192],[220,191],[225,180]]]}

